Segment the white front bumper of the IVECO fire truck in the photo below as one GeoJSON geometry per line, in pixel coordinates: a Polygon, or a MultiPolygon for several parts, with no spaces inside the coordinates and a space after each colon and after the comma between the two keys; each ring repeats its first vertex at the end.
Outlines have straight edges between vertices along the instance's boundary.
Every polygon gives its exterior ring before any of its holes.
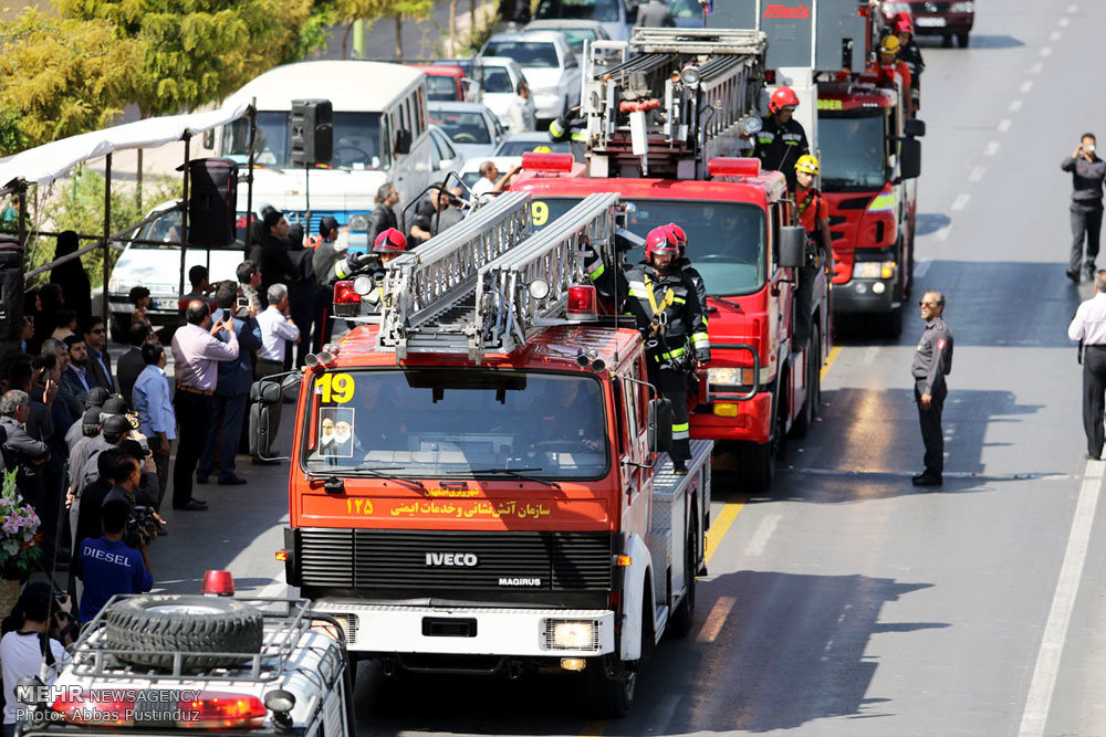
{"type": "Polygon", "coordinates": [[[313,609],[346,624],[346,647],[354,652],[591,657],[615,651],[611,610],[408,607],[341,599],[321,599],[313,609]],[[589,624],[587,642],[556,642],[555,625],[562,622],[589,624]]]}

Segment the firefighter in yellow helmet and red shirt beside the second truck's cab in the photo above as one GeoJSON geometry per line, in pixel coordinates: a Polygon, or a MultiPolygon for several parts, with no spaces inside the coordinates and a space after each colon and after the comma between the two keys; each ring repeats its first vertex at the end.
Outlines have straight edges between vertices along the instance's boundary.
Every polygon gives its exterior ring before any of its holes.
{"type": "Polygon", "coordinates": [[[814,327],[814,284],[817,282],[818,270],[825,263],[828,245],[833,242],[830,235],[830,208],[822,192],[814,187],[817,175],[818,160],[815,157],[810,154],[799,157],[795,164],[795,209],[800,224],[806,230],[810,248],[806,252],[806,265],[799,270],[799,284],[795,287],[794,350],[802,348],[811,339],[814,327]]]}

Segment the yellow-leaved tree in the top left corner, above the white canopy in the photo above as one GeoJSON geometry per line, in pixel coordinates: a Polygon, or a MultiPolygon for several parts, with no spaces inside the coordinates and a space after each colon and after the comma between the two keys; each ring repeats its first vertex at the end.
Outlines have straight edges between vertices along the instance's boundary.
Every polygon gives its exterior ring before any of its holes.
{"type": "Polygon", "coordinates": [[[107,125],[123,107],[135,53],[106,21],[30,9],[0,23],[0,154],[107,125]]]}

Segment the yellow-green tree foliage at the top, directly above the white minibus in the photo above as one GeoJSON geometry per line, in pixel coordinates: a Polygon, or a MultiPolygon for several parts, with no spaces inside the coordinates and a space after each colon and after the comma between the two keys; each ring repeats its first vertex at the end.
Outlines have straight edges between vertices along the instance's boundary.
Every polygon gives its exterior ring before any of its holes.
{"type": "Polygon", "coordinates": [[[58,0],[137,44],[128,101],[144,115],[225,97],[301,51],[311,0],[58,0]]]}

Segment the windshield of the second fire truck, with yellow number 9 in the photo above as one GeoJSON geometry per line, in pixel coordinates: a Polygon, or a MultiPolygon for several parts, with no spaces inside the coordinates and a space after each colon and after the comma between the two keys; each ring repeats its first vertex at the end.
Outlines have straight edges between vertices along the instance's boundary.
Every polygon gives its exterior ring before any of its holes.
{"type": "MultiPolygon", "coordinates": [[[[763,285],[768,272],[764,248],[764,214],[752,204],[691,200],[628,200],[637,211],[629,215],[628,228],[645,238],[658,225],[677,223],[688,235],[687,255],[702,275],[707,293],[719,296],[749,294],[763,285]]],[[[530,202],[534,228],[561,217],[580,198],[544,198],[534,194],[530,202]]],[[[628,263],[645,257],[641,250],[630,251],[628,263]]]]}

